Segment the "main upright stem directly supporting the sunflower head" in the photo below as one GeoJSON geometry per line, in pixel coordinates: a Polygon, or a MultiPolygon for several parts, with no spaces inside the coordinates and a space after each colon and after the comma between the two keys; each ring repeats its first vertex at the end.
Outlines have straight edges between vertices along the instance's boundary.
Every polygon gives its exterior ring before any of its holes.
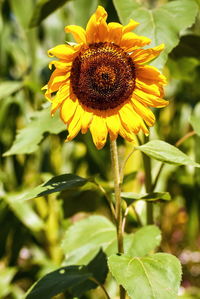
{"type": "MultiPolygon", "coordinates": [[[[116,229],[117,229],[117,245],[118,253],[124,253],[123,244],[123,223],[122,223],[122,203],[121,203],[121,179],[119,171],[119,159],[117,153],[116,140],[110,140],[110,153],[112,162],[112,171],[114,176],[114,189],[115,189],[115,215],[116,215],[116,229]]],[[[120,286],[120,299],[125,299],[126,291],[120,286]]]]}

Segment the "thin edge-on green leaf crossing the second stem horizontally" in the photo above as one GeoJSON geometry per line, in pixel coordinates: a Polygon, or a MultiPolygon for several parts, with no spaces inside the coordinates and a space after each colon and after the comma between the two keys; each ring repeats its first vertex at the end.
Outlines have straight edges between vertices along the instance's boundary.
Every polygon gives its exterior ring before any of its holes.
{"type": "Polygon", "coordinates": [[[145,200],[147,202],[171,200],[169,192],[152,192],[147,194],[121,192],[121,197],[126,201],[127,205],[131,205],[133,202],[137,200],[145,200]]]}

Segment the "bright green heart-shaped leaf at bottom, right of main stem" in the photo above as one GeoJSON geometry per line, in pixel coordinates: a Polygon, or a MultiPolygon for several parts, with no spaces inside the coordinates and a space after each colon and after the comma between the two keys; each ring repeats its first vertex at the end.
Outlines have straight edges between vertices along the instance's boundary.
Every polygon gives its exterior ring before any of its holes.
{"type": "Polygon", "coordinates": [[[181,266],[173,255],[156,253],[142,258],[112,255],[108,266],[132,299],[177,299],[181,266]]]}

